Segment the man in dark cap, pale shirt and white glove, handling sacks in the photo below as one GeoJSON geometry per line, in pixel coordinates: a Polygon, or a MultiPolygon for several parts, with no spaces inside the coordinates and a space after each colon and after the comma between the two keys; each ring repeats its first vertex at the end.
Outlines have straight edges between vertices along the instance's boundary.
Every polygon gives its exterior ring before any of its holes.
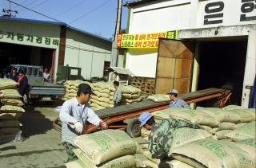
{"type": "Polygon", "coordinates": [[[106,123],[99,119],[88,104],[91,94],[93,92],[89,84],[79,84],[77,97],[66,100],[62,105],[59,117],[62,121],[62,143],[66,147],[66,153],[68,154],[66,162],[77,159],[73,152],[76,147],[73,139],[85,132],[86,121],[103,129],[106,128],[106,123]]]}

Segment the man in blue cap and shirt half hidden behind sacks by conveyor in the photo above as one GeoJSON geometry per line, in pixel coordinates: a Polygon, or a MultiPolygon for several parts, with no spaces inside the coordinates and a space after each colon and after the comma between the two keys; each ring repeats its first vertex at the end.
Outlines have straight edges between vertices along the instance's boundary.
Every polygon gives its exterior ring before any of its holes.
{"type": "Polygon", "coordinates": [[[178,98],[178,91],[176,89],[171,89],[170,92],[167,93],[170,96],[170,104],[169,107],[184,107],[191,108],[186,102],[182,99],[178,98]]]}

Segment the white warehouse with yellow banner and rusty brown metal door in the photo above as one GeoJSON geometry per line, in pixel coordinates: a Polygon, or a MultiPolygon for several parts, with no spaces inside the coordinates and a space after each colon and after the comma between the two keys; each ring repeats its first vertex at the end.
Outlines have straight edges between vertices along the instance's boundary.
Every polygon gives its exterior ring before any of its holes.
{"type": "Polygon", "coordinates": [[[154,77],[156,93],[233,88],[232,103],[248,107],[256,69],[255,1],[140,0],[124,6],[129,33],[118,36],[118,47],[129,48],[126,68],[135,76],[154,77]]]}

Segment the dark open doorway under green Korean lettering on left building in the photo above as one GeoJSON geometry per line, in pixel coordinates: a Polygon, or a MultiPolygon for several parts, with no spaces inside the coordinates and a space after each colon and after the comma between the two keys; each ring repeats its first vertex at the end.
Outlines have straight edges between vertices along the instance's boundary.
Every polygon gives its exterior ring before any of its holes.
{"type": "Polygon", "coordinates": [[[38,65],[54,71],[55,50],[0,42],[0,71],[9,64],[38,65]]]}

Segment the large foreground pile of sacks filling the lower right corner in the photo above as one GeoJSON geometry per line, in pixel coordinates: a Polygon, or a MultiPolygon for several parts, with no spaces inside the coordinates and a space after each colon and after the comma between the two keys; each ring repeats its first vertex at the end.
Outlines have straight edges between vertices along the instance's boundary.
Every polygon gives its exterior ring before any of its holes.
{"type": "MultiPolygon", "coordinates": [[[[202,127],[182,127],[174,131],[169,156],[176,160],[164,162],[166,167],[255,167],[255,113],[256,109],[234,105],[222,109],[174,107],[155,111],[156,122],[173,118],[202,127]]],[[[142,129],[142,137],[148,139],[148,135],[150,131],[142,129]]]]}

